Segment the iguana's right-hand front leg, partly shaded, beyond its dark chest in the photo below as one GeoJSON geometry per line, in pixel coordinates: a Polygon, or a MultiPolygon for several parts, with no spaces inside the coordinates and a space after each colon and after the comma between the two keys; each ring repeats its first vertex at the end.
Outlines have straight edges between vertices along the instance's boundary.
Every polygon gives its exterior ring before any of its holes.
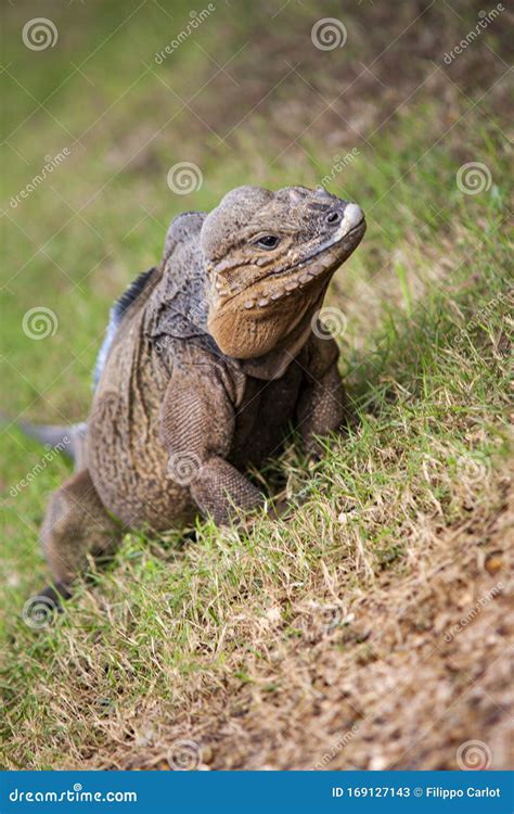
{"type": "Polygon", "coordinates": [[[308,456],[318,457],[316,436],[337,432],[346,412],[346,393],[337,370],[338,348],[331,339],[313,336],[304,355],[305,382],[297,420],[308,456]]]}

